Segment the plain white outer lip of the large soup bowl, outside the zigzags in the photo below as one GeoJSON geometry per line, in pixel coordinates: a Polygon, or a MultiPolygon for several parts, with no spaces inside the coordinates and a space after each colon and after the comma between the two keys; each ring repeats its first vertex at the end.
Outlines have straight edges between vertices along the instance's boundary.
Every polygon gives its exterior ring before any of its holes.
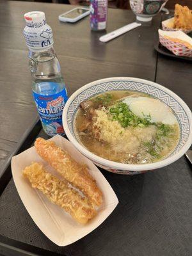
{"type": "Polygon", "coordinates": [[[70,104],[72,103],[72,101],[79,95],[79,93],[81,93],[83,90],[87,90],[91,86],[94,86],[94,85],[97,85],[100,83],[108,83],[110,81],[113,82],[115,80],[118,80],[118,81],[131,80],[131,81],[137,82],[137,83],[145,83],[148,86],[150,86],[150,85],[155,86],[156,88],[163,90],[164,92],[168,93],[169,95],[172,95],[176,100],[178,100],[178,102],[182,105],[182,108],[184,108],[184,110],[186,111],[186,115],[189,118],[189,125],[190,125],[190,127],[192,127],[191,110],[189,109],[188,105],[182,99],[180,99],[180,97],[177,94],[172,92],[172,90],[162,86],[161,84],[158,84],[158,83],[155,83],[152,81],[148,81],[146,79],[141,79],[141,78],[136,78],[136,77],[108,77],[108,78],[99,79],[99,80],[93,81],[91,83],[85,84],[84,86],[82,86],[81,88],[76,90],[76,92],[72,93],[72,95],[67,100],[65,107],[63,109],[62,120],[63,120],[63,127],[65,130],[65,134],[67,135],[68,140],[70,140],[72,142],[72,144],[77,148],[77,150],[79,150],[82,154],[84,154],[84,156],[88,157],[95,163],[101,164],[103,166],[106,166],[106,168],[111,168],[111,169],[126,170],[126,171],[129,170],[132,172],[154,170],[157,168],[162,168],[168,164],[171,164],[171,163],[177,161],[180,157],[182,157],[186,153],[186,151],[189,149],[189,147],[191,146],[191,143],[192,143],[192,132],[190,132],[190,130],[189,130],[188,140],[186,141],[184,146],[179,150],[179,152],[177,152],[176,154],[174,154],[171,157],[163,159],[162,161],[157,161],[156,163],[150,163],[150,164],[123,164],[123,163],[117,163],[114,161],[110,161],[108,159],[104,159],[104,158],[99,157],[99,156],[93,154],[92,152],[90,152],[88,149],[83,147],[83,145],[81,145],[76,140],[76,138],[74,138],[74,136],[70,132],[70,129],[68,127],[68,122],[67,122],[67,112],[68,112],[68,108],[69,108],[70,104]]]}

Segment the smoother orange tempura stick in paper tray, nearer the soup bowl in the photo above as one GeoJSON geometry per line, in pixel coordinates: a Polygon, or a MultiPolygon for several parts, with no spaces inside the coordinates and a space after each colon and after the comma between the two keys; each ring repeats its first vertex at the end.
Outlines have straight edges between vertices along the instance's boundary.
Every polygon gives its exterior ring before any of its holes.
{"type": "Polygon", "coordinates": [[[102,193],[85,165],[77,163],[53,141],[38,138],[35,141],[36,152],[49,163],[63,178],[83,191],[93,204],[102,204],[102,193]]]}

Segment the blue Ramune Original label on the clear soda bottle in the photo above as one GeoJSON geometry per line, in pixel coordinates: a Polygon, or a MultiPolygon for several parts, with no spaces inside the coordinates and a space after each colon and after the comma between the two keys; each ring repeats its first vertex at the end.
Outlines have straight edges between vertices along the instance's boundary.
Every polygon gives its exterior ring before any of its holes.
{"type": "Polygon", "coordinates": [[[33,97],[44,131],[49,136],[54,136],[56,134],[64,135],[62,113],[65,102],[68,99],[66,88],[59,93],[49,96],[33,92],[33,97]]]}

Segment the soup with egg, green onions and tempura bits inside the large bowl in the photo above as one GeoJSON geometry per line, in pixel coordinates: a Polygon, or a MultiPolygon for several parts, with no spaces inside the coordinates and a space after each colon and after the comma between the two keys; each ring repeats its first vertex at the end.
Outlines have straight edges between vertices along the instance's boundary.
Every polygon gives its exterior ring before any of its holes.
{"type": "Polygon", "coordinates": [[[179,124],[166,104],[145,93],[113,91],[80,104],[76,135],[90,152],[118,163],[166,158],[179,141],[179,124]]]}

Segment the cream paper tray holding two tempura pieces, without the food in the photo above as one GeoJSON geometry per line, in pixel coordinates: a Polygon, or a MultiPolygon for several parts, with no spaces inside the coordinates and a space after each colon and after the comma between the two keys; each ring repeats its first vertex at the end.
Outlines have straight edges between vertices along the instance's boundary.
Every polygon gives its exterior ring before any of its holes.
{"type": "Polygon", "coordinates": [[[29,181],[22,176],[22,170],[29,166],[31,162],[36,161],[44,164],[46,170],[59,177],[56,171],[38,156],[35,147],[31,147],[12,158],[13,180],[31,218],[52,242],[59,246],[66,246],[86,236],[106,220],[118,204],[118,198],[95,164],[76,150],[70,141],[60,135],[56,135],[50,140],[55,141],[56,145],[67,150],[77,162],[85,163],[88,166],[89,172],[96,180],[97,186],[99,186],[104,196],[104,203],[97,209],[97,216],[86,225],[81,225],[73,220],[61,207],[52,204],[43,193],[33,189],[29,181]]]}

